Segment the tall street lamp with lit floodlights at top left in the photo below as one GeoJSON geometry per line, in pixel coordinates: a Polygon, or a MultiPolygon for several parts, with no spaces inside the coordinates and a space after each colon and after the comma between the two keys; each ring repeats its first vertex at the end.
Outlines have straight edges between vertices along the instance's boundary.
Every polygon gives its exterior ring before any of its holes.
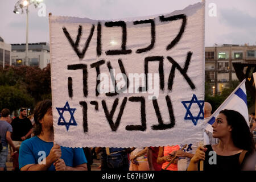
{"type": "Polygon", "coordinates": [[[26,56],[25,56],[25,62],[26,65],[28,65],[28,57],[27,57],[27,53],[28,53],[28,6],[30,5],[34,5],[35,8],[38,7],[38,5],[43,2],[42,0],[19,0],[18,2],[16,2],[15,6],[14,6],[14,11],[13,13],[15,14],[19,14],[21,11],[21,13],[24,13],[23,9],[26,9],[26,14],[27,14],[27,20],[26,20],[26,56]]]}

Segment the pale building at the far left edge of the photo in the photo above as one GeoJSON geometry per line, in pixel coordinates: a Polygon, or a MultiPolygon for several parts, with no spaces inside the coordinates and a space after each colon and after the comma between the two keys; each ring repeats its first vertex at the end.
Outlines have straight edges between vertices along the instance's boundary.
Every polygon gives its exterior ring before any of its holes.
{"type": "Polygon", "coordinates": [[[0,67],[11,65],[11,45],[5,43],[0,36],[0,67]]]}

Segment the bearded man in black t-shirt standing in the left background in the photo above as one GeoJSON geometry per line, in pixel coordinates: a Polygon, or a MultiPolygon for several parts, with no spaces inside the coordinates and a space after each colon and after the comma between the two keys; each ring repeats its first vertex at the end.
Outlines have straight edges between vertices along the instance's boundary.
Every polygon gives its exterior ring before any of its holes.
{"type": "Polygon", "coordinates": [[[13,126],[13,133],[11,134],[11,139],[13,139],[14,145],[22,143],[22,141],[31,137],[32,124],[30,119],[27,118],[27,109],[21,108],[19,112],[19,117],[13,119],[11,122],[13,126]]]}

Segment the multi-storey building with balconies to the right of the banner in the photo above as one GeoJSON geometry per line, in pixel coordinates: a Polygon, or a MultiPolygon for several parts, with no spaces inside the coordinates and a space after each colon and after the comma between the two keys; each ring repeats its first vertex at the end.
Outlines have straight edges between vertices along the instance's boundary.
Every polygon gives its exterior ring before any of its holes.
{"type": "Polygon", "coordinates": [[[205,81],[210,82],[213,95],[221,93],[229,80],[238,80],[233,63],[256,63],[256,46],[205,47],[205,81]]]}

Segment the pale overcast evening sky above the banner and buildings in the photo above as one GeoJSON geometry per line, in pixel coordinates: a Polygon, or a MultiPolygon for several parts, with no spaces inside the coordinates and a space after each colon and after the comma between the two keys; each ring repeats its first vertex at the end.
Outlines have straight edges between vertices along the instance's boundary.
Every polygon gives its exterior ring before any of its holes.
{"type": "MultiPolygon", "coordinates": [[[[0,0],[0,36],[6,43],[26,43],[26,14],[13,13],[16,2],[0,0]]],[[[28,42],[49,42],[49,13],[108,20],[171,13],[197,2],[200,0],[44,0],[46,16],[38,16],[39,8],[29,7],[28,42]]],[[[256,45],[255,7],[255,0],[206,0],[205,46],[256,45]],[[216,16],[209,16],[210,3],[216,5],[216,16]]]]}

